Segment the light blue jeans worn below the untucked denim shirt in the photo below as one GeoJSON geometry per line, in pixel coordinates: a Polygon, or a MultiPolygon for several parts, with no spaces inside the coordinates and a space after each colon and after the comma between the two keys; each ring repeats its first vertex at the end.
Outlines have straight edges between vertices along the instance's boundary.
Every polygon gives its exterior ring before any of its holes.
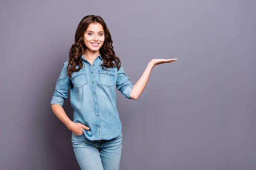
{"type": "Polygon", "coordinates": [[[116,138],[95,141],[72,132],[72,145],[81,170],[119,170],[122,131],[116,138]]]}

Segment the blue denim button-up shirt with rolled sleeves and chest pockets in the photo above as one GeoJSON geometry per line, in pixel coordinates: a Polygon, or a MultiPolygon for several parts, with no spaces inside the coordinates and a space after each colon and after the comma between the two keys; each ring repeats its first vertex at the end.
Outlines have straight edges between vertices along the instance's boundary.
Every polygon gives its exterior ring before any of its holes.
{"type": "MultiPolygon", "coordinates": [[[[93,61],[93,65],[81,56],[84,64],[77,72],[67,76],[67,64],[64,62],[60,77],[57,79],[55,91],[50,105],[63,106],[70,88],[70,103],[73,108],[73,122],[80,122],[90,130],[85,130],[84,135],[90,140],[113,139],[122,130],[122,123],[116,109],[115,87],[126,98],[131,99],[130,94],[133,84],[124,72],[121,65],[102,69],[101,54],[93,61]]],[[[76,66],[78,68],[79,65],[76,66]]]]}

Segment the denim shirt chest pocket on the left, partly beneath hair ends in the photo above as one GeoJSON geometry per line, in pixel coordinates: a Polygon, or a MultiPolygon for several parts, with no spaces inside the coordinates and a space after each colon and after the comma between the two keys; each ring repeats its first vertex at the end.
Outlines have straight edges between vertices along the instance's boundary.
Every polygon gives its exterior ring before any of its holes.
{"type": "Polygon", "coordinates": [[[70,76],[74,88],[82,88],[87,84],[87,76],[85,71],[73,72],[70,76]]]}

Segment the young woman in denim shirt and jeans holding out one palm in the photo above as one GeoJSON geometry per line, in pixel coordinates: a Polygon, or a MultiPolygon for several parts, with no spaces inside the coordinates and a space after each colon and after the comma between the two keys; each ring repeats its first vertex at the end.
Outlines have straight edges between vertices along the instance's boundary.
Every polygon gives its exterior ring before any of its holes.
{"type": "Polygon", "coordinates": [[[52,111],[72,131],[73,149],[81,170],[119,170],[122,123],[116,109],[115,87],[126,98],[136,100],[152,68],[177,59],[152,59],[133,85],[113,51],[108,27],[102,17],[95,15],[80,21],[69,54],[50,102],[52,111]],[[73,121],[62,108],[69,88],[73,121]]]}

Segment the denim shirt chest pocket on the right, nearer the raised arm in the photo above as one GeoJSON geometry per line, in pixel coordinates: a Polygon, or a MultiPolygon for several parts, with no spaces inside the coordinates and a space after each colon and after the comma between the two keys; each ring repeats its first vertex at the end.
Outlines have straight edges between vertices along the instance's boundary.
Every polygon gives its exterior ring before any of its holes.
{"type": "Polygon", "coordinates": [[[99,84],[106,87],[112,87],[115,85],[115,74],[114,70],[99,70],[99,84]]]}

